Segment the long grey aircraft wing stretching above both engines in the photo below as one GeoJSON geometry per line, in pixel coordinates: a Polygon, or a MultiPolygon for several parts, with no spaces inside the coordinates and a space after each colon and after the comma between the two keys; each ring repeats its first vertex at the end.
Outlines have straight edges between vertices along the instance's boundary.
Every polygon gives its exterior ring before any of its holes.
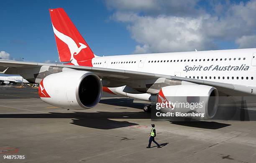
{"type": "Polygon", "coordinates": [[[137,71],[129,70],[118,70],[110,68],[97,68],[97,67],[87,67],[87,66],[77,66],[77,65],[64,65],[64,64],[51,64],[51,63],[34,63],[34,62],[23,62],[15,60],[0,60],[0,73],[8,73],[8,69],[29,69],[38,68],[41,66],[54,66],[61,68],[72,68],[74,70],[84,70],[95,73],[102,79],[113,79],[113,80],[147,80],[147,79],[157,79],[157,78],[167,78],[172,80],[182,80],[196,84],[210,85],[215,88],[226,88],[229,90],[234,90],[235,85],[229,83],[220,83],[213,81],[205,81],[191,78],[183,78],[171,75],[161,75],[155,73],[143,73],[137,71]]]}

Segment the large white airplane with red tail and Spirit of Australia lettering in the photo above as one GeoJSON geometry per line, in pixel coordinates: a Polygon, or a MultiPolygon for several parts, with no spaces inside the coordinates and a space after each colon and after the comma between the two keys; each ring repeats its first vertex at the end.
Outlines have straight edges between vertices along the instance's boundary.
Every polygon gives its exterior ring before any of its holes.
{"type": "Polygon", "coordinates": [[[219,106],[256,107],[256,48],[99,57],[62,8],[49,12],[59,60],[67,63],[0,60],[1,73],[40,83],[46,103],[93,108],[105,91],[152,105],[204,102],[195,110],[205,113],[204,119],[213,118],[219,106]]]}

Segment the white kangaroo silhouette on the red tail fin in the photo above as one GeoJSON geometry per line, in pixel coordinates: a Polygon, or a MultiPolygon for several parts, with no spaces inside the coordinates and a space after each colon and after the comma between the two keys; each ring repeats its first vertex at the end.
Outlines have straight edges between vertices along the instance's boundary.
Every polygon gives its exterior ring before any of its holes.
{"type": "Polygon", "coordinates": [[[78,65],[77,60],[74,59],[74,55],[78,55],[80,53],[80,51],[84,48],[87,48],[86,45],[79,43],[80,47],[77,46],[77,44],[74,42],[74,40],[72,38],[70,38],[67,35],[64,35],[63,33],[59,32],[58,30],[56,30],[56,28],[54,27],[54,25],[52,24],[52,27],[54,29],[54,34],[61,40],[63,41],[65,44],[68,45],[69,47],[69,51],[71,54],[70,57],[70,61],[71,63],[73,63],[74,65],[78,65]]]}

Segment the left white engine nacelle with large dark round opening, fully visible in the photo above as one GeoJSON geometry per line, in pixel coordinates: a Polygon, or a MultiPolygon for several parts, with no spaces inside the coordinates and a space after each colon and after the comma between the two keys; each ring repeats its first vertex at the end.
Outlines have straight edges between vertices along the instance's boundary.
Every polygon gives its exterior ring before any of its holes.
{"type": "Polygon", "coordinates": [[[64,71],[46,76],[38,93],[46,103],[66,109],[89,109],[102,95],[100,78],[87,71],[64,71]]]}

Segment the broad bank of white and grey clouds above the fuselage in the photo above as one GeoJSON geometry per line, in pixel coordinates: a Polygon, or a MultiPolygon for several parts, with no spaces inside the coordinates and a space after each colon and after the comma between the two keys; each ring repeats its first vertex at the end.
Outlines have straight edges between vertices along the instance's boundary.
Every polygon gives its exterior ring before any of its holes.
{"type": "Polygon", "coordinates": [[[136,40],[134,53],[218,49],[216,40],[256,48],[256,1],[106,0],[112,20],[123,22],[136,40]]]}

